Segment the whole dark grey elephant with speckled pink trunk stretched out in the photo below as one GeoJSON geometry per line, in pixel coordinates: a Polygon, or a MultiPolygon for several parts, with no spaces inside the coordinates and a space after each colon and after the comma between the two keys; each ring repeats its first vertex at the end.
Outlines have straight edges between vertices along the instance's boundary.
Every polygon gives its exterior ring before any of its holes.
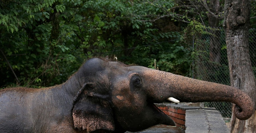
{"type": "Polygon", "coordinates": [[[136,132],[175,125],[154,103],[228,101],[240,120],[253,100],[234,87],[104,58],[88,59],[65,83],[0,91],[0,132],[136,132]]]}

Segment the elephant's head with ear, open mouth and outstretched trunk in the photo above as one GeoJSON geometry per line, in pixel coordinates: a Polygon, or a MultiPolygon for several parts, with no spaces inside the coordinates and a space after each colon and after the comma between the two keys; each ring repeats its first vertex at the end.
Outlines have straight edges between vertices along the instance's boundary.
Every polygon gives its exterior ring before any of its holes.
{"type": "Polygon", "coordinates": [[[232,102],[241,120],[255,110],[252,99],[239,89],[141,66],[93,58],[76,75],[84,86],[74,99],[74,125],[87,132],[135,132],[159,123],[175,125],[154,105],[169,97],[180,102],[232,102]]]}

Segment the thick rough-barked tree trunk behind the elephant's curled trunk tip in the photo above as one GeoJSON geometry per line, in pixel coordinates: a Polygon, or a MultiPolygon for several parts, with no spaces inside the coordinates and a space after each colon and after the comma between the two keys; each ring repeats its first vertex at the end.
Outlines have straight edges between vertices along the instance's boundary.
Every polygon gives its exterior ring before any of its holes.
{"type": "MultiPolygon", "coordinates": [[[[230,84],[246,92],[256,101],[256,81],[253,75],[248,48],[250,20],[250,0],[226,0],[224,5],[223,27],[226,34],[230,84]]],[[[256,113],[251,118],[241,121],[233,113],[230,132],[256,132],[256,113]]]]}

